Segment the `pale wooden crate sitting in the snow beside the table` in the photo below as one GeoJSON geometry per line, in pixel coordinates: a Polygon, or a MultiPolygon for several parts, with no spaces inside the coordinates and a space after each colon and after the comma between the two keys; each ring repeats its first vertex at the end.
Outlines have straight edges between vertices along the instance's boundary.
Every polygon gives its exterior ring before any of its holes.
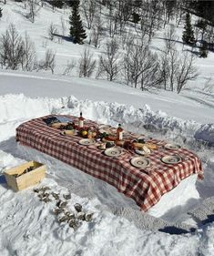
{"type": "Polygon", "coordinates": [[[7,169],[4,172],[6,183],[15,192],[33,186],[46,176],[46,165],[38,163],[36,161],[30,161],[12,169],[7,169]],[[34,166],[33,169],[17,178],[13,175],[21,174],[25,169],[34,166]]]}

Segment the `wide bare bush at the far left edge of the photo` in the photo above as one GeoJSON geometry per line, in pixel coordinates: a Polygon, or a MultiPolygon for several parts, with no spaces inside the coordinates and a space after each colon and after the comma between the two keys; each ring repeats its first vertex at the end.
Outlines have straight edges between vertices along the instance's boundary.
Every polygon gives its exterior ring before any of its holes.
{"type": "Polygon", "coordinates": [[[23,56],[23,40],[11,24],[0,37],[0,61],[6,68],[17,69],[23,56]]]}

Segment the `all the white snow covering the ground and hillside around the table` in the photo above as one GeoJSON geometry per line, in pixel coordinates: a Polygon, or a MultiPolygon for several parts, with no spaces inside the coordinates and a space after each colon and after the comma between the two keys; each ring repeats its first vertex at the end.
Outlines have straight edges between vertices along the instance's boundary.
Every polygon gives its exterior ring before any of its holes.
{"type": "MultiPolygon", "coordinates": [[[[24,35],[27,31],[34,39],[39,58],[44,56],[46,47],[56,49],[57,66],[56,75],[0,70],[0,172],[29,159],[44,162],[47,176],[39,186],[50,187],[61,198],[71,193],[67,210],[74,210],[78,202],[94,215],[92,221],[83,221],[75,231],[68,224],[58,223],[52,212],[54,200],[49,203],[38,200],[33,188],[15,193],[8,189],[4,176],[0,175],[1,255],[214,255],[214,222],[198,225],[188,214],[203,200],[214,196],[214,91],[203,90],[206,80],[214,77],[213,54],[197,61],[199,77],[180,95],[166,91],[142,92],[118,83],[78,78],[74,74],[65,77],[61,74],[66,62],[71,57],[78,58],[84,46],[51,42],[46,38],[46,31],[51,22],[59,25],[61,16],[67,17],[68,11],[53,13],[46,6],[32,25],[22,15],[25,12],[20,7],[22,3],[7,2],[1,5],[4,15],[0,33],[14,22],[20,33],[24,35]],[[122,123],[133,132],[173,141],[195,151],[203,163],[204,179],[197,180],[196,184],[195,179],[180,184],[172,198],[163,198],[158,207],[148,213],[161,219],[152,219],[148,214],[139,215],[133,200],[105,182],[16,144],[15,128],[25,120],[47,114],[78,116],[80,110],[85,118],[112,126],[122,123]],[[147,218],[151,218],[151,223],[145,223],[147,218]],[[155,229],[160,221],[166,221],[166,225],[188,225],[195,231],[168,234],[167,229],[165,232],[155,229]]],[[[180,32],[178,28],[178,34],[180,32]]],[[[162,34],[157,33],[152,47],[163,44],[162,34]]],[[[101,51],[91,49],[96,56],[101,51]]],[[[173,227],[169,230],[176,233],[173,227]]]]}

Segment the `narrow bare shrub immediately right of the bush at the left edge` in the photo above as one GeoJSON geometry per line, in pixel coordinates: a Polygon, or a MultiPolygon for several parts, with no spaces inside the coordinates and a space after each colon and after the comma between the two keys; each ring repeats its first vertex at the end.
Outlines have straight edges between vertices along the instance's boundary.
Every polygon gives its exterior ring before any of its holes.
{"type": "Polygon", "coordinates": [[[25,71],[32,71],[36,63],[36,50],[35,44],[31,41],[30,36],[25,32],[23,40],[23,56],[22,56],[22,69],[25,71]]]}

